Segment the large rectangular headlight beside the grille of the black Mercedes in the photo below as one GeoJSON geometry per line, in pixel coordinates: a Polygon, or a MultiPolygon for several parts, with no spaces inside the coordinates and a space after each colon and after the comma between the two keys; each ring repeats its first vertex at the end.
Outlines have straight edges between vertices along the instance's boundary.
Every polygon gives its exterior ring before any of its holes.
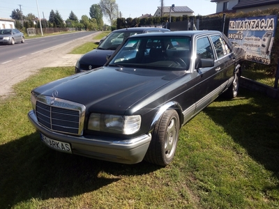
{"type": "Polygon", "coordinates": [[[116,134],[134,134],[140,130],[141,116],[91,114],[88,129],[116,134]]]}

